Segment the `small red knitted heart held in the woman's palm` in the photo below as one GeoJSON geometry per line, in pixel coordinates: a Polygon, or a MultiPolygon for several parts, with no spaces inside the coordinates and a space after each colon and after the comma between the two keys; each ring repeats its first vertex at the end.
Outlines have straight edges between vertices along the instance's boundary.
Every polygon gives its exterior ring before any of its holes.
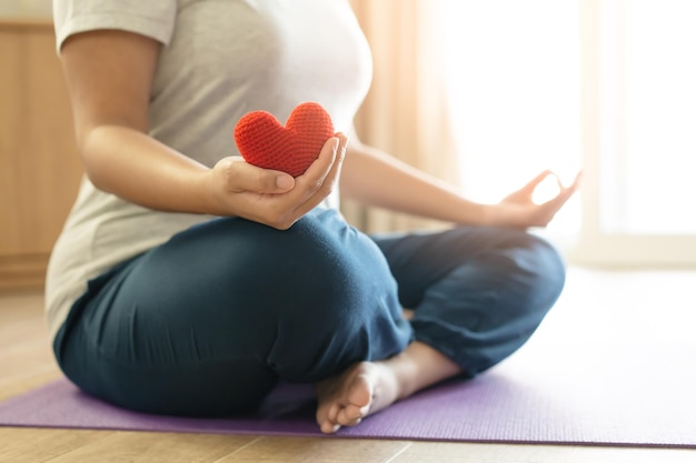
{"type": "Polygon", "coordinates": [[[267,111],[249,112],[235,127],[237,148],[248,163],[292,177],[305,173],[331,137],[331,118],[314,102],[295,108],[285,127],[267,111]]]}

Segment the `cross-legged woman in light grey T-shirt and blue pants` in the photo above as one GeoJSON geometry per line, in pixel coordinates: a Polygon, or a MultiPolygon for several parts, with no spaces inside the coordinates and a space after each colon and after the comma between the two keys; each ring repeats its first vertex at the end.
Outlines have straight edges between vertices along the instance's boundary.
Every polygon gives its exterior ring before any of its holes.
{"type": "Polygon", "coordinates": [[[54,0],[87,175],[53,250],[47,312],[66,375],[149,413],[226,415],[316,384],[322,432],[517,350],[558,298],[543,173],[478,204],[367,147],[370,56],[342,0],[54,0]],[[341,132],[300,177],[243,162],[251,110],[316,101],[341,132]],[[349,133],[350,137],[345,133],[349,133]],[[349,142],[350,138],[350,142],[349,142]],[[368,238],[366,204],[457,224],[368,238]],[[410,320],[407,320],[410,319],[410,320]]]}

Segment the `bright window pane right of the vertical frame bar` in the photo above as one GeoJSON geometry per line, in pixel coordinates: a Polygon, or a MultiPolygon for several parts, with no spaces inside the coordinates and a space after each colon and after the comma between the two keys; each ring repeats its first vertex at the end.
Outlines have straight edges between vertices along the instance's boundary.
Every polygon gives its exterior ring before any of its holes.
{"type": "Polygon", "coordinates": [[[696,234],[696,2],[605,0],[599,13],[601,230],[696,234]]]}

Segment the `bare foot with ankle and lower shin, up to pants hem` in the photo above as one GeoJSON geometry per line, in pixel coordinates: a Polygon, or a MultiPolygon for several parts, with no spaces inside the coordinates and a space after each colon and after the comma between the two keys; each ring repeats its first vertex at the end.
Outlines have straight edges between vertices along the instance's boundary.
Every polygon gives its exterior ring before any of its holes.
{"type": "Polygon", "coordinates": [[[451,360],[421,342],[379,362],[359,362],[317,383],[317,423],[324,433],[355,426],[364,417],[460,373],[451,360]]]}

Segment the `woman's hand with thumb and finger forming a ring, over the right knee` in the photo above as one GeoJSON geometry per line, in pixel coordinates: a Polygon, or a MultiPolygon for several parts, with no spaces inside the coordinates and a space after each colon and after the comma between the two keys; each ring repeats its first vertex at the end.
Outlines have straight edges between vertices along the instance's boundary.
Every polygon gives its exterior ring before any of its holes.
{"type": "Polygon", "coordinates": [[[529,183],[508,194],[498,204],[493,205],[490,222],[497,225],[511,227],[546,227],[554,219],[556,213],[570,199],[579,187],[581,174],[578,173],[573,183],[564,187],[558,177],[544,171],[534,178],[529,183]],[[554,177],[558,184],[557,194],[540,204],[534,202],[534,193],[539,184],[549,177],[554,177]]]}

